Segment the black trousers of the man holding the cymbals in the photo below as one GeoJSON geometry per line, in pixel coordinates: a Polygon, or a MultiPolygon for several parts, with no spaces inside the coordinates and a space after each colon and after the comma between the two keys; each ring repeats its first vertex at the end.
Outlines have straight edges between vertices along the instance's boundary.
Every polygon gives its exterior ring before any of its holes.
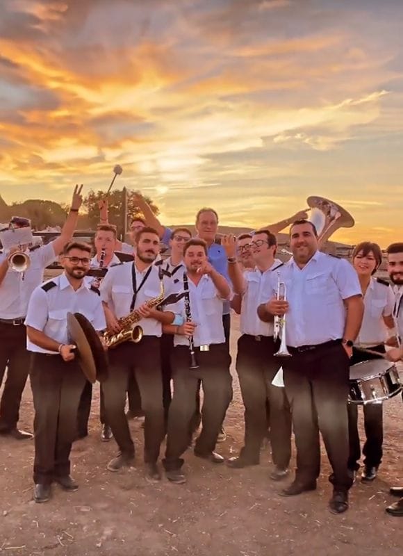
{"type": "Polygon", "coordinates": [[[70,450],[85,376],[76,361],[59,355],[32,354],[30,370],[35,418],[33,480],[50,484],[70,473],[70,450]]]}

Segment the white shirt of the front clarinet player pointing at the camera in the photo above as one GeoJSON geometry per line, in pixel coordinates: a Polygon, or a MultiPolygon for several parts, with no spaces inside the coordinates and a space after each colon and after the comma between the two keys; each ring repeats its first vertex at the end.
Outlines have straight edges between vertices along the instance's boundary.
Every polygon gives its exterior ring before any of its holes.
{"type": "MultiPolygon", "coordinates": [[[[183,289],[183,273],[181,273],[181,289],[183,289]]],[[[192,322],[197,324],[193,334],[196,347],[225,342],[224,327],[222,325],[222,305],[224,300],[215,288],[213,280],[203,275],[197,286],[188,279],[190,314],[192,322]]],[[[170,309],[186,320],[185,300],[182,298],[170,309]]],[[[188,337],[175,334],[174,345],[188,345],[188,337]]]]}

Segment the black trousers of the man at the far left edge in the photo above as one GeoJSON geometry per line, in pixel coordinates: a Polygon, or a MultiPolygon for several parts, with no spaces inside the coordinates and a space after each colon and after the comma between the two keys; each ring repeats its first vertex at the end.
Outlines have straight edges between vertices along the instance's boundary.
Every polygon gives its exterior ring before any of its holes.
{"type": "Polygon", "coordinates": [[[7,378],[0,402],[0,432],[14,429],[19,420],[19,405],[29,369],[24,325],[0,322],[0,386],[6,367],[7,378]]]}

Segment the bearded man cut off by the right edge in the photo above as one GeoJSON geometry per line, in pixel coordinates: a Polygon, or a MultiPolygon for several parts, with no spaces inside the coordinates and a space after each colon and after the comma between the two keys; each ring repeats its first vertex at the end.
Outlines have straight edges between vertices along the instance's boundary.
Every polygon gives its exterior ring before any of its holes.
{"type": "MultiPolygon", "coordinates": [[[[390,361],[400,361],[403,359],[403,243],[392,243],[386,253],[388,254],[388,273],[395,293],[393,318],[397,328],[398,343],[398,347],[389,350],[387,356],[390,361]]],[[[388,506],[386,512],[391,516],[403,516],[403,486],[393,486],[390,494],[401,498],[388,506]]]]}

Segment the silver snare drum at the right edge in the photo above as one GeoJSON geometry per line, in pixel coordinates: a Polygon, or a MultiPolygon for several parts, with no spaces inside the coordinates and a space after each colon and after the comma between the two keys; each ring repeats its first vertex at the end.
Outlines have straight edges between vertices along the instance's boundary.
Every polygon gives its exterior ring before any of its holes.
{"type": "Polygon", "coordinates": [[[386,359],[361,361],[349,368],[349,402],[381,403],[402,390],[399,373],[386,359]]]}

